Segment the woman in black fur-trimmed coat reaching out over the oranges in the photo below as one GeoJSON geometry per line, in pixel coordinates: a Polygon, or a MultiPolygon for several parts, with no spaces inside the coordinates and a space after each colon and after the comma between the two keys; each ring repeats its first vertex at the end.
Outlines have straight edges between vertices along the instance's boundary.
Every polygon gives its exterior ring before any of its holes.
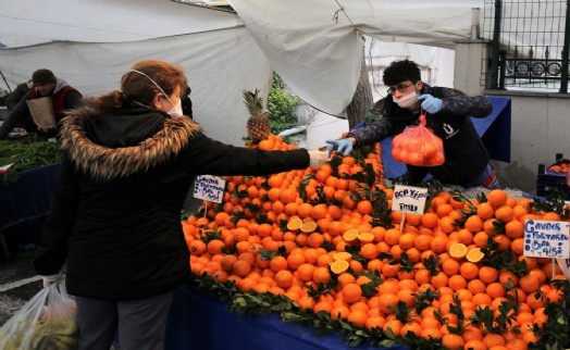
{"type": "Polygon", "coordinates": [[[181,210],[194,178],[269,175],[329,160],[305,149],[262,151],[208,138],[178,117],[181,67],[133,65],[112,91],[66,113],[52,211],[34,260],[45,286],[76,297],[79,349],[162,349],[173,290],[190,277],[181,210]],[[176,116],[171,116],[176,115],[176,116]]]}

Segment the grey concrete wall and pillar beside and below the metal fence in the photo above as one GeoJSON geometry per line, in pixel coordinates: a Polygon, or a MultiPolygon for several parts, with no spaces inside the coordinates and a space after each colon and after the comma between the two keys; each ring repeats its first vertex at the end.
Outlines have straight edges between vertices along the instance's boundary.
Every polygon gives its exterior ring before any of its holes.
{"type": "Polygon", "coordinates": [[[468,95],[511,99],[510,163],[493,162],[503,187],[536,195],[538,164],[570,158],[570,95],[519,90],[485,90],[491,46],[481,39],[456,45],[454,87],[468,95]]]}

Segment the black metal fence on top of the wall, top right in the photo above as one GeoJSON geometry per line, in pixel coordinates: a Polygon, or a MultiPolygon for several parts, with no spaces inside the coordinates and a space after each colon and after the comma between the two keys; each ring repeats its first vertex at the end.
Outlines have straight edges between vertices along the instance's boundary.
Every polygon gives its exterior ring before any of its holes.
{"type": "MultiPolygon", "coordinates": [[[[485,0],[490,89],[568,93],[570,0],[485,0]]],[[[485,65],[484,65],[485,66],[485,65]]]]}

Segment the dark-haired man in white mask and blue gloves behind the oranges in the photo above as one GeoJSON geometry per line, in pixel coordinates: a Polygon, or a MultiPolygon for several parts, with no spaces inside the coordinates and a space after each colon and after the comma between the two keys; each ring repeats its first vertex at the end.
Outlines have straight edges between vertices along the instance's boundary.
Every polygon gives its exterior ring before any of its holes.
{"type": "Polygon", "coordinates": [[[376,102],[381,117],[361,128],[351,129],[344,138],[326,140],[330,152],[345,155],[352,147],[373,145],[401,134],[419,124],[420,110],[426,114],[426,127],[443,141],[445,162],[436,166],[407,165],[410,184],[421,183],[428,174],[442,184],[463,187],[499,188],[490,155],[470,116],[485,117],[493,105],[484,96],[469,97],[445,87],[431,87],[421,80],[413,61],[393,62],[384,70],[387,96],[376,102]]]}

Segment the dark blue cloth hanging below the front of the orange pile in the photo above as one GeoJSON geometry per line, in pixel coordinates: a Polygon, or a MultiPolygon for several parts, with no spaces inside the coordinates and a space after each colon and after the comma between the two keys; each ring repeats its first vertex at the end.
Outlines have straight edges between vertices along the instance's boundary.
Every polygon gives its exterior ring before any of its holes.
{"type": "Polygon", "coordinates": [[[349,348],[340,335],[319,335],[317,329],[281,322],[276,314],[248,315],[226,310],[227,301],[188,286],[174,292],[166,327],[166,350],[408,350],[361,343],[349,348]]]}

